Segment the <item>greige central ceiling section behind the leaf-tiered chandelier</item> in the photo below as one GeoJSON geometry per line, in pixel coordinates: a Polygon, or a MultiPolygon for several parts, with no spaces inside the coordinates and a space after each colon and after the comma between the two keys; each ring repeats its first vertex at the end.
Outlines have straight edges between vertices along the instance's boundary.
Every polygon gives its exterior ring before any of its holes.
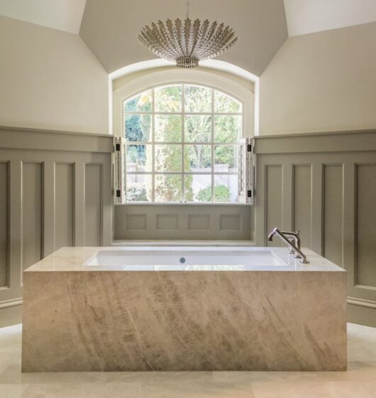
{"type": "MultiPolygon", "coordinates": [[[[260,75],[287,38],[283,0],[191,0],[192,18],[231,25],[239,43],[219,57],[260,75]]],[[[108,72],[155,58],[137,40],[158,19],[185,17],[185,0],[87,0],[80,35],[108,72]]]]}

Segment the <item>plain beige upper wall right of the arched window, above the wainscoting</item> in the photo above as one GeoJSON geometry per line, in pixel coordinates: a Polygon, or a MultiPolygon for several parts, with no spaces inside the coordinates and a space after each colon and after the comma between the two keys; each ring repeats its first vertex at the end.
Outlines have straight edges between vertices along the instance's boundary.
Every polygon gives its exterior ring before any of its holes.
{"type": "Polygon", "coordinates": [[[260,134],[376,127],[376,22],[289,38],[260,78],[260,134]]]}

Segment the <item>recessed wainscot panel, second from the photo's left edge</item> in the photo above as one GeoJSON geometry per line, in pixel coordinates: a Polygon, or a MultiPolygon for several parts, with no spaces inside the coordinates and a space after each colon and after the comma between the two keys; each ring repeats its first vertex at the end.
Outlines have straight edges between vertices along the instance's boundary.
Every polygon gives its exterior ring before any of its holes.
{"type": "Polygon", "coordinates": [[[43,257],[43,164],[22,163],[22,267],[43,257]]]}

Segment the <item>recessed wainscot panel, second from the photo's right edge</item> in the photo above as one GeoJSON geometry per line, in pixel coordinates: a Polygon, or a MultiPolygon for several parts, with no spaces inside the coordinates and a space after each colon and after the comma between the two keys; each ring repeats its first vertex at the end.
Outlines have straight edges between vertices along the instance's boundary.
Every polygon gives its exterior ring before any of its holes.
{"type": "Polygon", "coordinates": [[[343,166],[324,166],[324,257],[343,264],[343,166]]]}

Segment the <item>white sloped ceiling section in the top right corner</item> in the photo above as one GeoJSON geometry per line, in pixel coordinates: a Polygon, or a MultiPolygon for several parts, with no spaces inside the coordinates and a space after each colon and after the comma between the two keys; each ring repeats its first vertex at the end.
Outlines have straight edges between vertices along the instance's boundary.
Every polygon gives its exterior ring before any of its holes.
{"type": "Polygon", "coordinates": [[[376,0],[284,0],[289,36],[376,21],[376,0]]]}

